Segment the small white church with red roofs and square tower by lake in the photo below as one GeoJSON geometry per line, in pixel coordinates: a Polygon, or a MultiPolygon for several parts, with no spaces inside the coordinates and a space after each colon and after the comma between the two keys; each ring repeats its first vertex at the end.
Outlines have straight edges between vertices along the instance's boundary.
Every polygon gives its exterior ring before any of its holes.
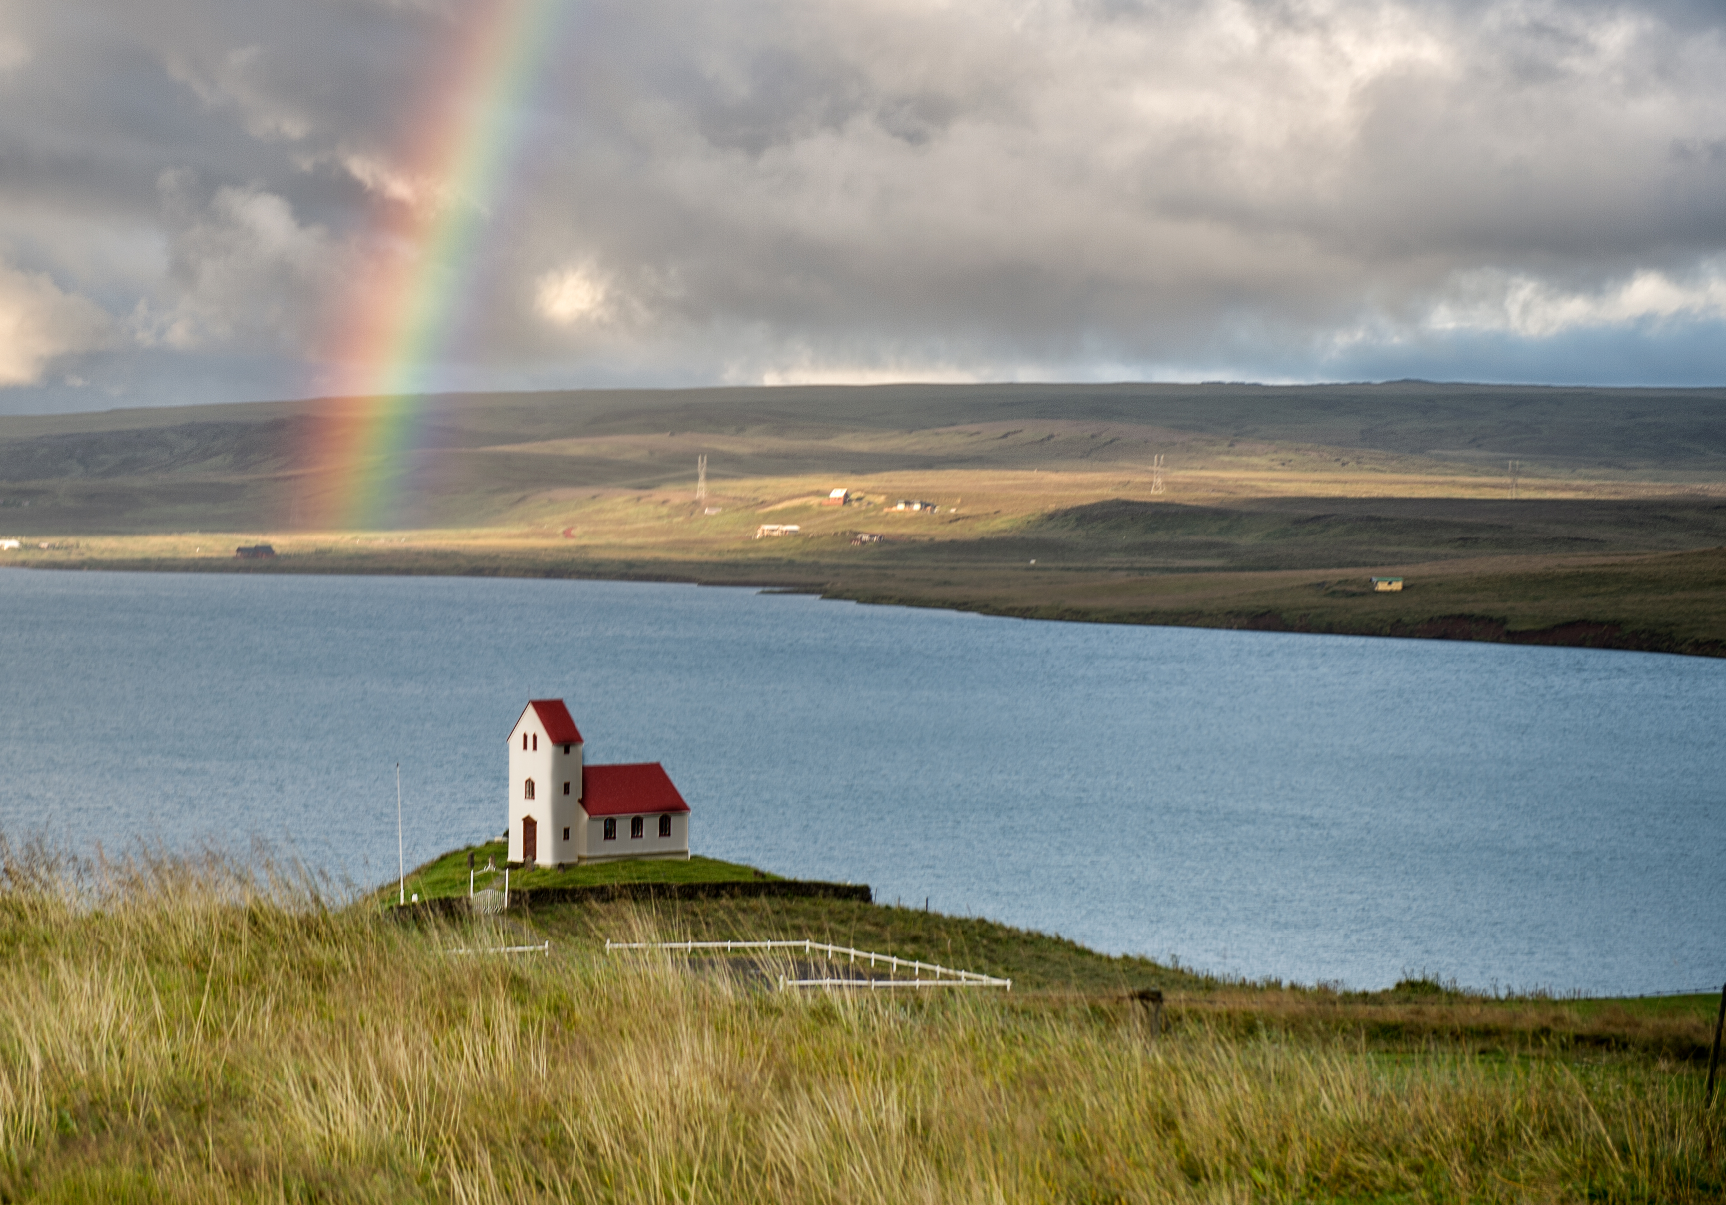
{"type": "Polygon", "coordinates": [[[623,858],[689,858],[689,804],[658,761],[583,765],[570,708],[533,699],[509,734],[509,861],[623,858]]]}

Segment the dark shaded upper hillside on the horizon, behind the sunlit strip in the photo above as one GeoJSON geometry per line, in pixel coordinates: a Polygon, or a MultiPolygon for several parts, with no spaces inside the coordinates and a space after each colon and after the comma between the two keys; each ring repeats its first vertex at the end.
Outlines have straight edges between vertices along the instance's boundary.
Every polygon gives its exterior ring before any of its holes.
{"type": "MultiPolygon", "coordinates": [[[[29,533],[292,528],[350,401],[0,418],[0,494],[29,533]],[[22,508],[29,501],[31,508],[22,508]],[[55,518],[60,520],[55,525],[55,518]]],[[[1529,489],[1726,482],[1726,390],[1488,385],[889,385],[459,394],[414,402],[413,442],[368,471],[414,527],[490,523],[542,490],[942,471],[1143,470],[1465,480],[1529,489]]],[[[1381,482],[1383,485],[1383,482],[1381,482]]],[[[1417,489],[1417,482],[1410,489],[1417,489]]],[[[1270,489],[1262,483],[1263,489],[1270,489]]],[[[1250,492],[1262,492],[1251,489],[1250,492]]],[[[1288,492],[1288,490],[1272,490],[1288,492]]],[[[1374,490],[1389,494],[1391,490],[1374,490]]]]}

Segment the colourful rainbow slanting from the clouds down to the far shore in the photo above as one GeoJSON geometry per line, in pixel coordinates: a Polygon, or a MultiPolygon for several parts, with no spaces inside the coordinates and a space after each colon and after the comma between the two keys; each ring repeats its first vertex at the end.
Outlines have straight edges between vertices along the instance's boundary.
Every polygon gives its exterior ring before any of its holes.
{"type": "Polygon", "coordinates": [[[490,219],[528,133],[525,110],[568,0],[483,0],[450,26],[428,102],[444,114],[409,140],[414,197],[380,200],[383,271],[354,281],[333,328],[337,397],[312,423],[309,463],[326,482],[312,527],[376,528],[397,518],[402,454],[456,335],[490,219]]]}

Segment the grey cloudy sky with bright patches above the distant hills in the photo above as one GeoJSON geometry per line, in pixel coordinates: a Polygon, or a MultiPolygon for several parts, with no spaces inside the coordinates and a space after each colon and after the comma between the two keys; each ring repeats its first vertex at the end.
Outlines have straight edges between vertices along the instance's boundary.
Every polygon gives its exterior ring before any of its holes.
{"type": "Polygon", "coordinates": [[[1726,5],[0,0],[0,413],[350,388],[392,280],[447,388],[1721,383],[1726,5]]]}

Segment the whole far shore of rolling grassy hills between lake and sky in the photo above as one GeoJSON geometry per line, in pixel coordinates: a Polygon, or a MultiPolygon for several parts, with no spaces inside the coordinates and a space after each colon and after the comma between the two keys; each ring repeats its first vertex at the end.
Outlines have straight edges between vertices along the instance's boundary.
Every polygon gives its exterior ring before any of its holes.
{"type": "Polygon", "coordinates": [[[1726,390],[442,397],[421,445],[364,468],[395,499],[388,527],[364,532],[307,521],[343,485],[307,451],[338,406],[0,420],[0,535],[24,544],[0,565],[683,580],[1036,618],[1726,651],[1726,390]],[[834,487],[854,504],[822,506],[834,487]],[[763,523],[799,530],[756,539],[763,523]],[[280,556],[233,559],[257,542],[280,556]],[[1374,596],[1372,575],[1407,590],[1374,596]]]}

